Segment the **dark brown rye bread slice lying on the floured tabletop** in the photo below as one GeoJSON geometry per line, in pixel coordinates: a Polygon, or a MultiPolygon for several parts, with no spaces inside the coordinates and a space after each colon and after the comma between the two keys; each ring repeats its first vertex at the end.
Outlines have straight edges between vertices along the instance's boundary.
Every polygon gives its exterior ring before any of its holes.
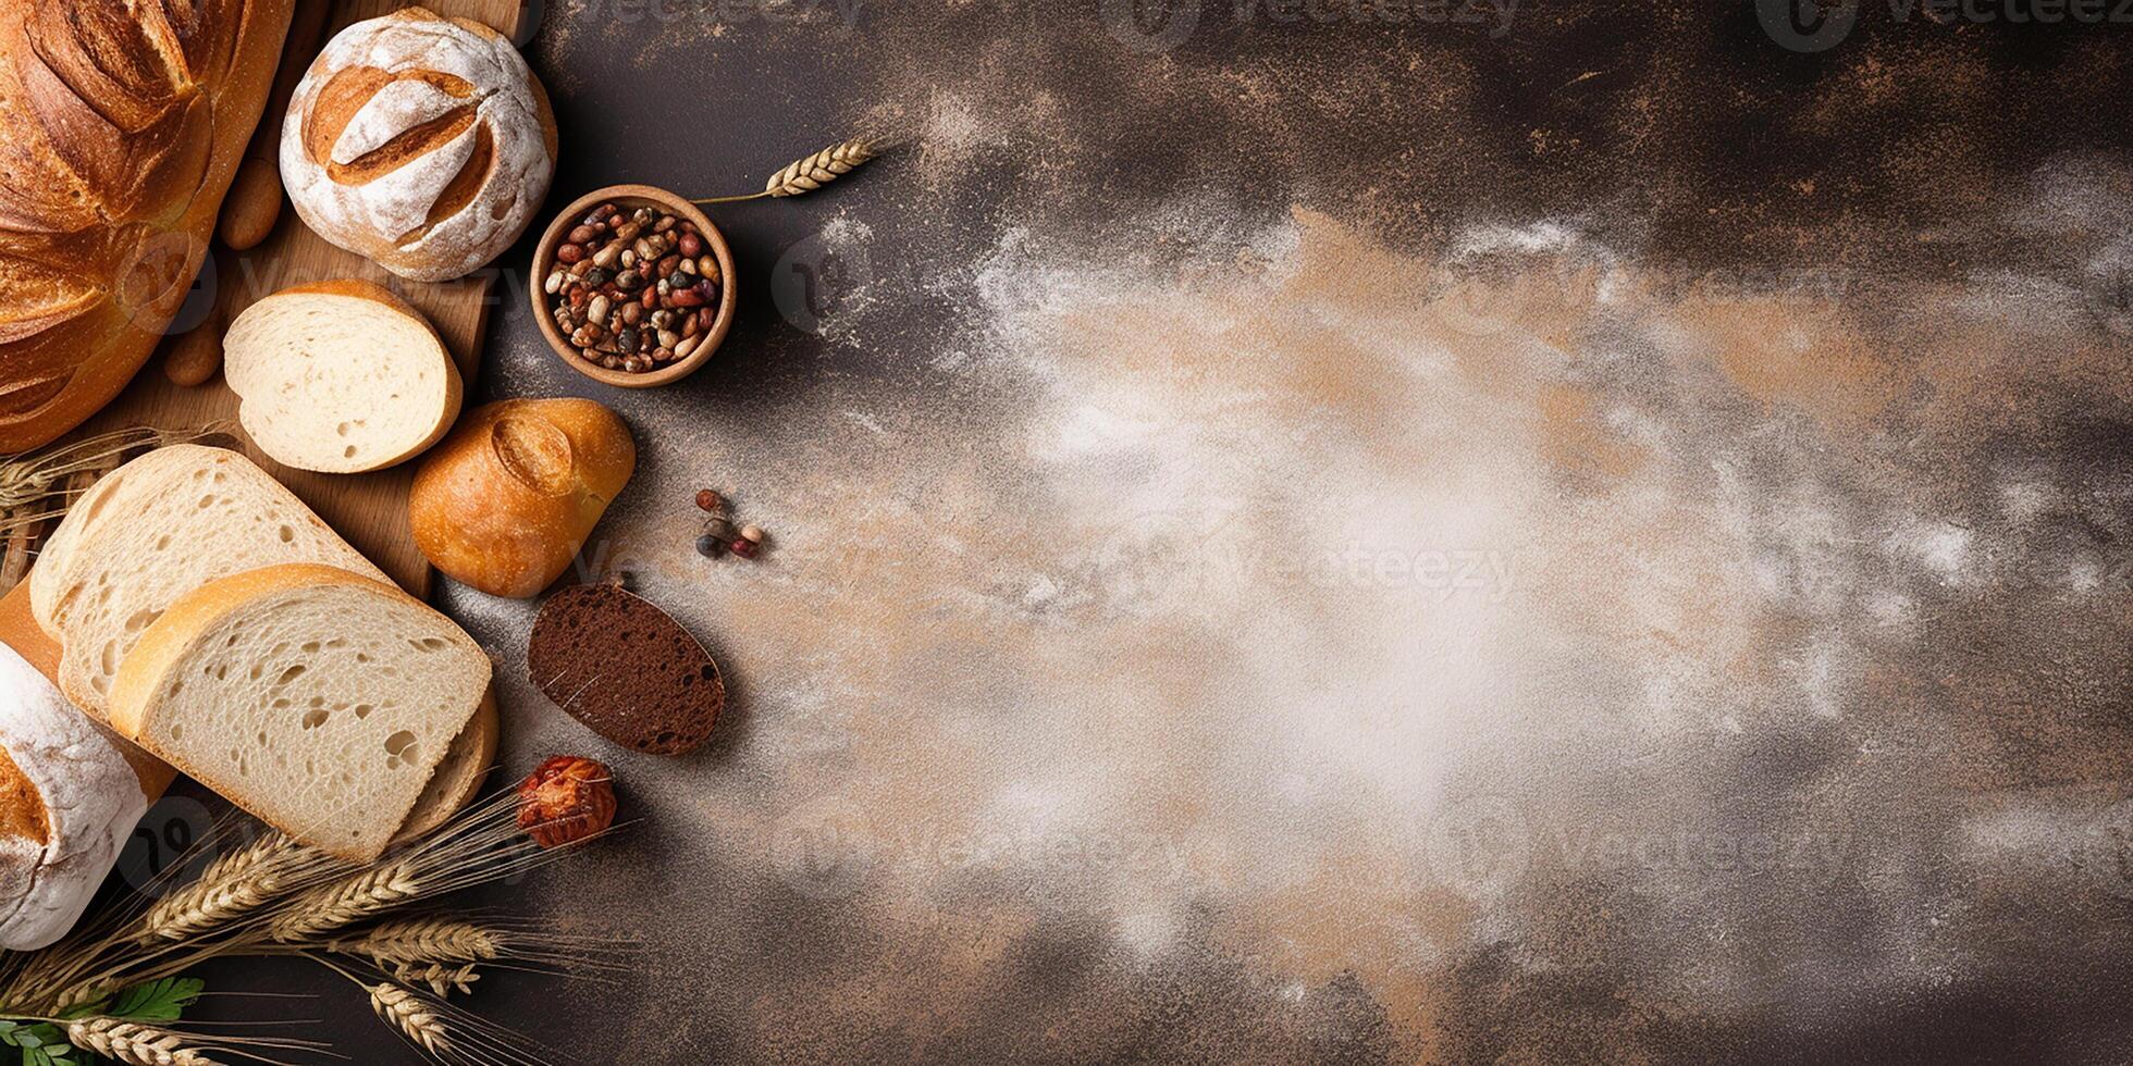
{"type": "Polygon", "coordinates": [[[719,721],[725,680],[668,612],[612,582],[548,597],[527,646],[533,684],[591,731],[651,755],[683,755],[719,721]]]}

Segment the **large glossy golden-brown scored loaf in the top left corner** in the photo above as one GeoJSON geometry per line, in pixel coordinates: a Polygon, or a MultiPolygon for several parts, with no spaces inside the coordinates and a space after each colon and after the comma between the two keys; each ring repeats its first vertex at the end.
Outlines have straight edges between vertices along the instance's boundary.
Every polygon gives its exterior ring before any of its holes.
{"type": "Polygon", "coordinates": [[[292,0],[0,0],[0,452],[111,401],[177,313],[292,0]]]}

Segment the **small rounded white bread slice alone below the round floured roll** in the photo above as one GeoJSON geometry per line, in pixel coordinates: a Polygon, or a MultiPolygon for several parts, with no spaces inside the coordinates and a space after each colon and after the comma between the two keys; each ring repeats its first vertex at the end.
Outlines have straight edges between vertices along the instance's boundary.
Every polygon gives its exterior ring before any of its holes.
{"type": "Polygon", "coordinates": [[[294,286],[222,339],[237,420],[277,463],[356,473],[407,461],[459,418],[452,354],[420,311],[371,281],[294,286]]]}

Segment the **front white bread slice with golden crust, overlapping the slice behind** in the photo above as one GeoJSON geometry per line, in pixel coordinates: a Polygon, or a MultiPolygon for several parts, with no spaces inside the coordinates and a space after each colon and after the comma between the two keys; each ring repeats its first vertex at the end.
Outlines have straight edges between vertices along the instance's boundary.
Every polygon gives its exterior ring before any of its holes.
{"type": "Polygon", "coordinates": [[[111,727],[260,821],[369,861],[488,680],[482,646],[397,586],[284,563],[171,603],[119,667],[111,727]]]}

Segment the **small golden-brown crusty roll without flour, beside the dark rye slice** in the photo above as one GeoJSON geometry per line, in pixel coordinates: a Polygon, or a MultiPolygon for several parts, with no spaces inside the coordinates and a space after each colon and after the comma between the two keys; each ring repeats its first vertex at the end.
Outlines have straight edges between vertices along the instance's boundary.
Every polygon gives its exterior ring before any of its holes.
{"type": "Polygon", "coordinates": [[[570,569],[636,465],[629,426],[589,399],[476,407],[416,469],[414,544],[474,588],[531,597],[570,569]]]}

